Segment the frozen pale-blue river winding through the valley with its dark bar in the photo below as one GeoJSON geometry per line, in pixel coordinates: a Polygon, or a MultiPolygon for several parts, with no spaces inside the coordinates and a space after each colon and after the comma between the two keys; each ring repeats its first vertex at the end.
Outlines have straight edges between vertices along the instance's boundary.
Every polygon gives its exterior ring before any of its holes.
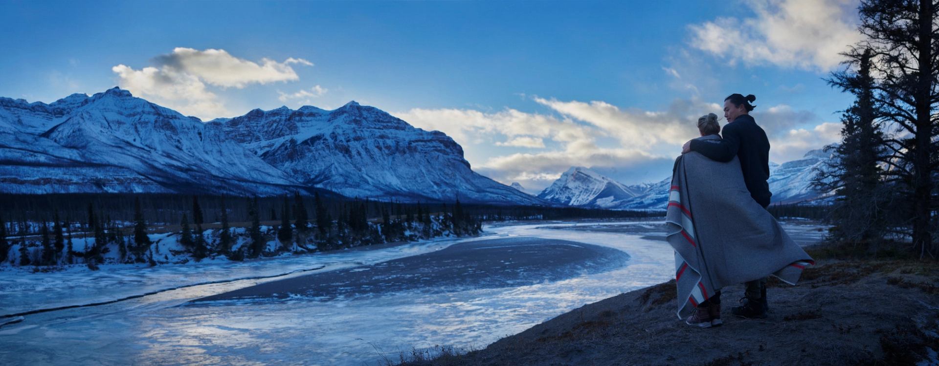
{"type": "MultiPolygon", "coordinates": [[[[802,244],[823,234],[813,224],[784,227],[802,244]]],[[[27,314],[0,328],[0,359],[378,365],[412,347],[482,348],[673,275],[661,221],[543,221],[485,232],[244,263],[2,271],[0,315],[105,303],[27,314]]]]}

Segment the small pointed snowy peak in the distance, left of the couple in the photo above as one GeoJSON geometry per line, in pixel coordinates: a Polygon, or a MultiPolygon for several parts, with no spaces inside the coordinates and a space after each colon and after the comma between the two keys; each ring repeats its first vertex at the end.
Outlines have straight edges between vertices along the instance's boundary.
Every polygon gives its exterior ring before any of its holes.
{"type": "Polygon", "coordinates": [[[619,208],[641,192],[590,169],[574,166],[538,193],[538,198],[569,206],[619,208]]]}

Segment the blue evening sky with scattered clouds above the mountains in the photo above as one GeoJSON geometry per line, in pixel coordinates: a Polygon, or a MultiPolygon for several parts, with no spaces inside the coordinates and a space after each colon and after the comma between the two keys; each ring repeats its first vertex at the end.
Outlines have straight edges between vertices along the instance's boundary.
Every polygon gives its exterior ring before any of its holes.
{"type": "Polygon", "coordinates": [[[543,189],[573,165],[670,174],[701,114],[757,96],[772,159],[838,138],[824,83],[858,39],[848,0],[757,2],[0,2],[0,96],[120,85],[204,120],[372,105],[543,189]]]}

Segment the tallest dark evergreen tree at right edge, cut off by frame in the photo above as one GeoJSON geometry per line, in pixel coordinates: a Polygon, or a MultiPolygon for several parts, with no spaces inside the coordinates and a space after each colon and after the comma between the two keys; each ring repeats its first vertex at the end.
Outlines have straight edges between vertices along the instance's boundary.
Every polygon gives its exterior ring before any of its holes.
{"type": "MultiPolygon", "coordinates": [[[[889,156],[884,183],[912,209],[891,212],[901,223],[912,222],[913,245],[920,257],[939,256],[934,210],[936,128],[939,114],[939,7],[922,0],[865,0],[858,8],[859,31],[865,37],[847,53],[850,66],[860,69],[870,58],[871,100],[884,109],[883,122],[895,127],[884,139],[889,156]],[[870,50],[870,53],[869,51],[870,50]]],[[[831,83],[851,87],[855,75],[836,72],[831,83]]],[[[901,206],[901,207],[902,207],[901,206]]]]}

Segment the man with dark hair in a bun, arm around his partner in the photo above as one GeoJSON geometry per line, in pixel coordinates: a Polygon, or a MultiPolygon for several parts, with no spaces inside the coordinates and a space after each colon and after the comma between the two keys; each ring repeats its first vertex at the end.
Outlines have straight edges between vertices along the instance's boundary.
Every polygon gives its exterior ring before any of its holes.
{"type": "MultiPolygon", "coordinates": [[[[691,140],[682,147],[682,154],[697,151],[701,155],[716,161],[740,160],[744,182],[750,196],[766,208],[769,206],[769,139],[766,132],[757,126],[749,115],[755,106],[750,102],[755,96],[731,94],[724,99],[724,117],[728,124],[724,126],[723,139],[716,142],[691,140]]],[[[766,278],[747,282],[747,291],[742,306],[731,309],[731,313],[747,318],[765,318],[769,310],[766,301],[766,278]]],[[[719,303],[719,300],[718,300],[719,303]]]]}

